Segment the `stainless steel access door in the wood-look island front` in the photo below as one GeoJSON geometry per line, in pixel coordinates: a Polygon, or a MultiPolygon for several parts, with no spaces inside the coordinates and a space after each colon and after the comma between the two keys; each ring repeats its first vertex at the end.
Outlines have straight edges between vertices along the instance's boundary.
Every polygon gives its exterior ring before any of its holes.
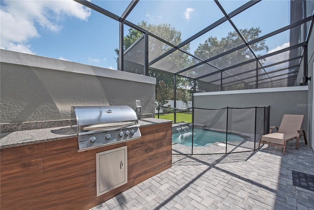
{"type": "Polygon", "coordinates": [[[128,183],[127,146],[96,153],[97,197],[128,183]]]}

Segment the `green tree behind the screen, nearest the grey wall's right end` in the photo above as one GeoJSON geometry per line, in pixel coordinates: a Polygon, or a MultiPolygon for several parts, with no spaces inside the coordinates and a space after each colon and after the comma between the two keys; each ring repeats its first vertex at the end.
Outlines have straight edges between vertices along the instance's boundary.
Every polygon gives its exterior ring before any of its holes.
{"type": "MultiPolygon", "coordinates": [[[[175,28],[172,28],[169,24],[147,24],[147,22],[142,21],[138,24],[139,27],[150,31],[151,33],[157,35],[158,37],[167,40],[168,42],[178,45],[182,42],[181,32],[177,31],[175,28]]],[[[124,49],[127,50],[139,37],[142,36],[142,33],[138,30],[130,28],[128,34],[124,37],[124,49]]],[[[149,60],[154,60],[160,55],[166,53],[168,50],[172,49],[171,46],[157,40],[156,38],[149,36],[149,60]]],[[[189,44],[183,46],[183,50],[189,51],[189,44]]],[[[119,55],[119,49],[115,49],[117,55],[119,55]]],[[[149,76],[156,78],[156,101],[160,106],[164,106],[168,103],[168,100],[173,99],[174,92],[174,76],[172,74],[167,74],[160,70],[167,70],[170,72],[177,72],[189,66],[190,60],[188,55],[183,54],[180,51],[175,51],[163,58],[162,60],[157,61],[152,65],[152,68],[149,68],[149,76]]],[[[184,82],[184,79],[177,79],[177,84],[184,82]]]]}

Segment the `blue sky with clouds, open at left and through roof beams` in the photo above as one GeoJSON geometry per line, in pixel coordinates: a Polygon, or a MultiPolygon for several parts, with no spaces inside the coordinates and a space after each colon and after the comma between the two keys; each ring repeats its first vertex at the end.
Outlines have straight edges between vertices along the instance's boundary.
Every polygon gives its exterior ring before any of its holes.
{"type": "MultiPolygon", "coordinates": [[[[129,0],[92,0],[110,12],[121,15],[129,0]]],[[[247,0],[223,0],[230,13],[247,0]]],[[[260,26],[263,34],[288,25],[289,0],[262,1],[245,15],[235,16],[239,28],[260,26]],[[280,12],[279,12],[280,11],[280,12]],[[255,18],[247,18],[255,14],[255,18]],[[276,21],[274,21],[275,18],[276,21]],[[275,22],[275,23],[274,23],[275,22]],[[282,25],[282,26],[281,26],[282,25]],[[273,27],[274,26],[274,27],[273,27]]],[[[134,24],[170,24],[185,40],[223,16],[211,0],[140,0],[127,20],[134,24]]],[[[229,23],[228,23],[229,24],[229,23]]],[[[231,26],[222,25],[191,43],[191,52],[209,35],[221,38],[231,26]]],[[[114,49],[119,46],[119,23],[72,0],[1,0],[0,48],[54,59],[117,69],[114,49]]],[[[289,45],[288,38],[274,37],[269,50],[289,45]]],[[[266,53],[266,52],[265,52],[266,53]]]]}

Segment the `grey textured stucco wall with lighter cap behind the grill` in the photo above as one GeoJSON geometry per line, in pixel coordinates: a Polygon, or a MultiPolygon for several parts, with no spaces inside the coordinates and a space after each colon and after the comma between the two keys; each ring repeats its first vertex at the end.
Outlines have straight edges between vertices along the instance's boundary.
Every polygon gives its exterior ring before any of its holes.
{"type": "Polygon", "coordinates": [[[156,79],[0,50],[0,123],[67,120],[71,106],[128,105],[155,112],[156,79]]]}

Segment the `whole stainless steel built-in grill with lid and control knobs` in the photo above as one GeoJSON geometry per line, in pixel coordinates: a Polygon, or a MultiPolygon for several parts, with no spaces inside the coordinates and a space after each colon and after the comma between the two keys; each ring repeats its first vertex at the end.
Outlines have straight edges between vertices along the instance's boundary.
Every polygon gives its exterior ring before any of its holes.
{"type": "Polygon", "coordinates": [[[78,151],[141,137],[136,113],[129,106],[74,106],[71,119],[78,132],[78,151]]]}

